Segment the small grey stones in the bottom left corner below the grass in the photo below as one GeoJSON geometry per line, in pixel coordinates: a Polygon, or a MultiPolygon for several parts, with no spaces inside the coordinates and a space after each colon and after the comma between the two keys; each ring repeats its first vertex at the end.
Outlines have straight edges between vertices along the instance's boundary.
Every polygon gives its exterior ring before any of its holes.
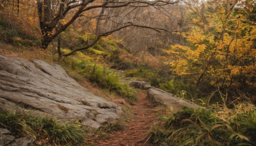
{"type": "Polygon", "coordinates": [[[32,136],[15,138],[9,134],[9,130],[0,128],[0,146],[34,146],[35,139],[32,136]]]}

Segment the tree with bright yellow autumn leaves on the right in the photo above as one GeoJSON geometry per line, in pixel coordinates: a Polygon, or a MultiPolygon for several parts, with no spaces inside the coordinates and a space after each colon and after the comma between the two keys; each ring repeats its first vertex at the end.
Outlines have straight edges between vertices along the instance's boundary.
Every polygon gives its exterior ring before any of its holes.
{"type": "Polygon", "coordinates": [[[256,88],[256,23],[247,19],[249,11],[236,8],[227,13],[222,6],[215,14],[183,34],[187,45],[173,45],[166,52],[175,59],[169,63],[178,75],[192,75],[197,86],[215,86],[223,93],[238,89],[254,94],[256,88]],[[207,22],[207,23],[205,23],[207,22]],[[203,25],[202,25],[203,24],[203,25]]]}

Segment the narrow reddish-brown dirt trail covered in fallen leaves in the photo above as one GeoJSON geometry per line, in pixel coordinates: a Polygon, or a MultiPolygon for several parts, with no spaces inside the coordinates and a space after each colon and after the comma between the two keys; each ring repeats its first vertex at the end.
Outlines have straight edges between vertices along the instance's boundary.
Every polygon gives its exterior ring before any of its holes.
{"type": "Polygon", "coordinates": [[[156,146],[146,142],[148,126],[153,125],[159,119],[154,115],[154,105],[146,98],[145,91],[138,90],[138,100],[131,106],[134,116],[125,124],[122,132],[113,132],[107,139],[97,141],[97,146],[156,146]],[[145,143],[146,142],[146,143],[145,143]]]}

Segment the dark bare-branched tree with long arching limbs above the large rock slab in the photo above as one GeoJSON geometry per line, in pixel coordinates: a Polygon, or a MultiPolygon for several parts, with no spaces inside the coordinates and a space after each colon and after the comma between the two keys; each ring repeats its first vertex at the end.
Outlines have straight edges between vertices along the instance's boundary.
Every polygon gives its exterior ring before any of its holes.
{"type": "MultiPolygon", "coordinates": [[[[166,6],[178,3],[179,0],[167,1],[167,0],[156,0],[156,1],[146,1],[146,0],[40,0],[37,1],[38,4],[38,15],[40,21],[41,33],[43,34],[41,46],[47,49],[48,45],[54,38],[56,38],[62,31],[67,29],[77,18],[86,16],[92,10],[99,10],[99,13],[94,19],[109,19],[111,16],[104,16],[105,11],[109,11],[112,8],[145,8],[149,6],[166,6]],[[102,11],[100,10],[102,9],[102,11]],[[72,10],[72,11],[71,11],[72,10]],[[69,15],[67,19],[67,15],[69,15]]],[[[100,21],[97,21],[99,25],[100,21]]],[[[145,26],[141,24],[134,23],[133,21],[126,21],[123,23],[118,22],[115,28],[111,30],[104,31],[104,33],[99,33],[96,35],[95,40],[88,44],[87,46],[73,50],[68,54],[63,54],[62,56],[69,56],[74,52],[81,51],[93,46],[100,37],[112,34],[115,31],[121,30],[129,26],[142,27],[147,29],[154,29],[156,31],[168,31],[163,28],[145,26]]]]}

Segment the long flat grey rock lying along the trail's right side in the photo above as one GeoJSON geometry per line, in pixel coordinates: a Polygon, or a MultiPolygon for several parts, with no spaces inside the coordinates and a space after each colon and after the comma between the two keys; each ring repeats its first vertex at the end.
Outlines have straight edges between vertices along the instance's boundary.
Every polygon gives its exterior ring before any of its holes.
{"type": "Polygon", "coordinates": [[[192,103],[189,100],[182,98],[180,99],[180,97],[177,97],[173,94],[167,93],[157,88],[149,89],[147,97],[157,103],[171,106],[174,110],[180,110],[184,108],[201,108],[201,106],[198,106],[197,104],[192,103]]]}

